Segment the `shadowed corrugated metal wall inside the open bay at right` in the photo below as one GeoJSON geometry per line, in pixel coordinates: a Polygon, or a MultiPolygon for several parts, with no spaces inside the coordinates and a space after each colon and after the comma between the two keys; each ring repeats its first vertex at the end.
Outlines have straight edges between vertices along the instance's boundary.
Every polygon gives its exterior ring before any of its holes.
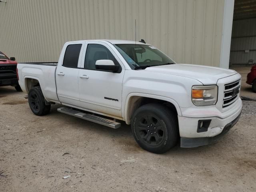
{"type": "Polygon", "coordinates": [[[256,18],[233,21],[230,48],[231,64],[247,64],[248,60],[256,62],[256,18]],[[249,52],[245,52],[249,50],[249,52]]]}

